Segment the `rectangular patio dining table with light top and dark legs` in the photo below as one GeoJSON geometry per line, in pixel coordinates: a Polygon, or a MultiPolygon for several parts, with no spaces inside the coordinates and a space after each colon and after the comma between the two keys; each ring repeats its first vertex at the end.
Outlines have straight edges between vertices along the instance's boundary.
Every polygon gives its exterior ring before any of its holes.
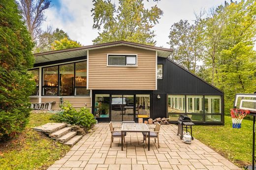
{"type": "Polygon", "coordinates": [[[147,124],[144,123],[123,123],[121,128],[121,144],[122,150],[124,150],[124,133],[125,132],[146,132],[148,133],[148,150],[150,150],[150,129],[147,124]]]}

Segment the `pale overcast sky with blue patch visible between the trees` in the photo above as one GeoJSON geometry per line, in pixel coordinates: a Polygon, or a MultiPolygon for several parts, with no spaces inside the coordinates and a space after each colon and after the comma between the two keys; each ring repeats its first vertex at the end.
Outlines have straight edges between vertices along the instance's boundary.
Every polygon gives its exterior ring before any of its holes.
{"type": "MultiPolygon", "coordinates": [[[[112,1],[118,3],[118,0],[112,1]]],[[[98,30],[92,28],[92,0],[52,0],[52,4],[54,6],[45,12],[47,21],[44,22],[43,28],[46,29],[47,25],[53,26],[54,29],[58,27],[67,32],[72,40],[79,41],[84,46],[92,45],[92,40],[98,35],[98,30]]],[[[167,42],[172,24],[179,20],[192,23],[193,12],[198,13],[201,9],[208,10],[210,7],[224,4],[224,0],[145,0],[146,7],[155,4],[163,11],[159,24],[154,27],[155,40],[157,46],[169,48],[167,42]]]]}

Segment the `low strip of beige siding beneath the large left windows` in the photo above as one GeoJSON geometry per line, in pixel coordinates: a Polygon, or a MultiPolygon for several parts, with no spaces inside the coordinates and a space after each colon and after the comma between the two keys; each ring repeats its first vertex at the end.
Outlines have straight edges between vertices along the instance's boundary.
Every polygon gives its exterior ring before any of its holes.
{"type": "MultiPolygon", "coordinates": [[[[91,97],[64,97],[63,99],[64,101],[69,101],[74,108],[91,108],[91,97]]],[[[50,101],[55,101],[55,103],[52,105],[53,110],[60,110],[60,97],[42,97],[42,103],[50,101]]]]}

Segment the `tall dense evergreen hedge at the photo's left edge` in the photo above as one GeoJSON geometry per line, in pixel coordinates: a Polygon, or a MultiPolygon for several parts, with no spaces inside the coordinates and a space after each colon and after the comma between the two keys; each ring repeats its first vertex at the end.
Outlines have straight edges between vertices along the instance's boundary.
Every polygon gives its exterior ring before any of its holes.
{"type": "Polygon", "coordinates": [[[21,132],[34,88],[33,43],[14,0],[0,0],[0,140],[21,132]]]}

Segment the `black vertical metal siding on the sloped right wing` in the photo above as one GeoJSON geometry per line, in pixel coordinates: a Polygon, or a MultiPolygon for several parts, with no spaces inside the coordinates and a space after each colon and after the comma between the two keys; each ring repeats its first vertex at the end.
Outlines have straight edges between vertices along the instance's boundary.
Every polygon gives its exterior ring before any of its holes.
{"type": "Polygon", "coordinates": [[[224,93],[222,91],[167,58],[158,57],[158,64],[163,64],[163,79],[157,80],[158,90],[155,90],[152,95],[153,119],[167,117],[168,94],[220,95],[222,96],[223,122],[218,123],[224,124],[224,93]],[[158,95],[160,98],[157,98],[158,95]]]}

